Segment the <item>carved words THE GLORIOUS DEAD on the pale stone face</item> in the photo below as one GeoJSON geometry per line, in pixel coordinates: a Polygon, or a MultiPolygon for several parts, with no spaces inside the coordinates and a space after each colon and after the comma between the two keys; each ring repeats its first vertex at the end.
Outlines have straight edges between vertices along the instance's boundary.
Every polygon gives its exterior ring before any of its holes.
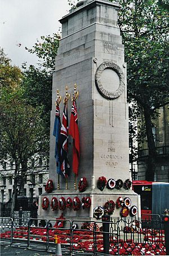
{"type": "Polygon", "coordinates": [[[123,157],[115,152],[115,148],[108,148],[106,153],[100,154],[100,158],[104,160],[105,166],[114,168],[118,165],[119,161],[123,160],[123,157]]]}

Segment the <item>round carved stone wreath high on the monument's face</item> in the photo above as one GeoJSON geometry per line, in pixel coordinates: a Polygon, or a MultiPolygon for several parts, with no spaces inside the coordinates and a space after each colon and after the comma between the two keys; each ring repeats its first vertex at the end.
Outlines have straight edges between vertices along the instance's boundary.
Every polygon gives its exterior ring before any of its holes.
{"type": "Polygon", "coordinates": [[[99,68],[97,68],[96,73],[95,73],[95,83],[97,90],[100,92],[100,94],[106,98],[106,99],[116,99],[118,98],[123,90],[124,90],[124,73],[122,72],[121,68],[113,63],[112,61],[104,61],[99,68]],[[103,71],[106,69],[112,69],[114,70],[119,77],[119,87],[116,91],[108,91],[104,89],[104,86],[101,84],[100,79],[101,79],[101,74],[103,71]]]}

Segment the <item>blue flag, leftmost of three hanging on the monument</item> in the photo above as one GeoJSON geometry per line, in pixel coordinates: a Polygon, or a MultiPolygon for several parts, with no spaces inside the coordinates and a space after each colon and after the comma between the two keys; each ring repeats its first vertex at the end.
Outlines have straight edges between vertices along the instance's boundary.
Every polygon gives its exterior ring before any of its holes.
{"type": "Polygon", "coordinates": [[[55,158],[56,158],[56,171],[57,174],[63,174],[61,171],[60,166],[60,149],[59,149],[59,137],[60,137],[60,109],[59,105],[56,105],[56,113],[55,113],[55,123],[54,123],[54,132],[53,135],[56,137],[56,144],[55,144],[55,158]]]}

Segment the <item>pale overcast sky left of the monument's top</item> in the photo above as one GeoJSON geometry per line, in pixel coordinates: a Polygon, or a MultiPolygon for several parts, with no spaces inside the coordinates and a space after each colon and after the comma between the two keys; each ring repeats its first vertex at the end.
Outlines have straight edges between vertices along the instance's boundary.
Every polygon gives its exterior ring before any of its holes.
{"type": "Polygon", "coordinates": [[[31,48],[37,38],[57,33],[58,20],[69,9],[68,0],[0,0],[0,46],[12,64],[37,63],[25,46],[31,48]]]}

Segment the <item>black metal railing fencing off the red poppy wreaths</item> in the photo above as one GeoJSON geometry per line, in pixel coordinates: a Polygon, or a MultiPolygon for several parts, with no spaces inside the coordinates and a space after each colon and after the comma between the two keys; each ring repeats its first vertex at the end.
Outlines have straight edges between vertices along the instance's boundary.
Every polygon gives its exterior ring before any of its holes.
{"type": "Polygon", "coordinates": [[[150,250],[154,255],[164,255],[164,231],[158,216],[149,215],[149,219],[144,216],[143,220],[112,218],[107,222],[109,232],[104,231],[103,223],[83,223],[83,220],[68,219],[0,218],[1,243],[55,253],[55,235],[58,235],[63,255],[105,255],[103,241],[106,233],[109,254],[145,255],[146,250],[150,250]],[[145,226],[146,222],[149,222],[149,226],[145,226]]]}

